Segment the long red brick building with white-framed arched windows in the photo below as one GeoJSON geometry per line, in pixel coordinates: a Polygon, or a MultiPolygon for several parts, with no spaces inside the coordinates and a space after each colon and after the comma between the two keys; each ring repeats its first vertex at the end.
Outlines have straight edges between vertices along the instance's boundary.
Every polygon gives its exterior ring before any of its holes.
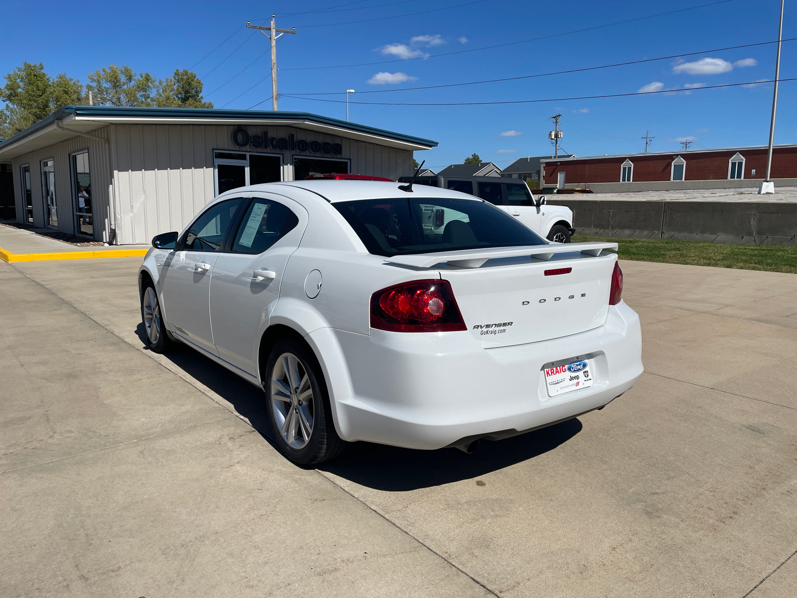
{"type": "MultiPolygon", "coordinates": [[[[611,185],[611,191],[622,191],[623,187],[628,187],[628,191],[642,191],[653,187],[660,189],[753,187],[766,175],[767,148],[764,146],[599,155],[590,158],[551,158],[542,162],[542,170],[542,178],[547,187],[579,187],[596,184],[603,187],[601,183],[620,183],[611,185]],[[714,183],[707,183],[709,181],[714,183]],[[662,185],[640,186],[633,183],[662,183],[662,185]]],[[[797,179],[797,145],[775,146],[771,179],[797,179]]]]}

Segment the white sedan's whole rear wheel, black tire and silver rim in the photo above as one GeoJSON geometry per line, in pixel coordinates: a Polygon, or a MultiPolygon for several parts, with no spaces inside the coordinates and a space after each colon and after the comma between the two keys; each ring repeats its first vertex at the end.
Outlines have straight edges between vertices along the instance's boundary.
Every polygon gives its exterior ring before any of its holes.
{"type": "Polygon", "coordinates": [[[292,338],[277,341],[264,382],[269,423],[286,457],[314,465],[344,451],[347,443],[332,422],[324,374],[307,345],[292,338]]]}

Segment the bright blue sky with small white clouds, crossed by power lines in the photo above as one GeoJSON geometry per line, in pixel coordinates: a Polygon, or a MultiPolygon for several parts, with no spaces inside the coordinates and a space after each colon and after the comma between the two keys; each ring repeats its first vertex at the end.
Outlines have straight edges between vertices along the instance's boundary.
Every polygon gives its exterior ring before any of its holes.
{"type": "MultiPolygon", "coordinates": [[[[51,75],[65,72],[85,83],[87,73],[110,64],[129,65],[155,77],[167,77],[176,68],[191,68],[205,83],[206,100],[213,101],[217,108],[250,108],[271,95],[269,78],[249,89],[269,75],[269,41],[243,26],[247,20],[265,24],[274,12],[277,27],[296,27],[297,31],[295,36],[284,35],[277,42],[279,91],[289,95],[355,89],[351,102],[457,103],[673,90],[654,96],[534,104],[350,104],[354,122],[438,141],[437,149],[416,153],[418,161],[426,159],[426,166],[436,170],[461,163],[474,151],[500,166],[526,155],[545,155],[551,151],[547,136],[552,127],[547,119],[557,112],[563,115],[563,150],[576,155],[643,151],[640,138],[647,130],[655,137],[650,151],[677,150],[681,148],[678,140],[687,138],[693,140],[692,148],[766,144],[771,84],[699,87],[774,76],[774,44],[722,52],[704,50],[775,40],[779,15],[776,0],[731,0],[582,33],[478,50],[710,1],[143,0],[135,4],[81,2],[69,7],[62,2],[37,2],[36,6],[6,2],[5,20],[14,26],[4,31],[0,73],[9,72],[22,61],[41,61],[51,75]],[[305,14],[296,14],[300,12],[305,14]],[[201,60],[222,41],[221,47],[201,60]],[[436,57],[473,49],[477,50],[436,57]],[[520,77],[688,52],[700,53],[678,60],[520,81],[363,93],[520,77]],[[332,68],[389,60],[395,62],[332,68]]],[[[790,14],[789,9],[787,3],[783,37],[797,37],[797,14],[790,14]]],[[[797,41],[783,44],[781,78],[797,77],[795,52],[797,41]]],[[[776,144],[797,143],[795,84],[797,81],[780,85],[776,144]]],[[[269,100],[260,107],[270,109],[270,105],[269,100]]],[[[281,98],[280,108],[338,118],[345,118],[346,113],[345,104],[292,97],[281,98]]]]}

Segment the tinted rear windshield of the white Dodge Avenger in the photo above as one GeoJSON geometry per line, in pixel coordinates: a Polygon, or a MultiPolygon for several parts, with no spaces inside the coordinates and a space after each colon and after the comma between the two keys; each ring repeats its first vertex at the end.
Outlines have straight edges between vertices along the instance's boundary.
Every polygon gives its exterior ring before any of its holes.
{"type": "Polygon", "coordinates": [[[545,244],[509,214],[475,199],[359,199],[332,205],[375,255],[545,244]]]}

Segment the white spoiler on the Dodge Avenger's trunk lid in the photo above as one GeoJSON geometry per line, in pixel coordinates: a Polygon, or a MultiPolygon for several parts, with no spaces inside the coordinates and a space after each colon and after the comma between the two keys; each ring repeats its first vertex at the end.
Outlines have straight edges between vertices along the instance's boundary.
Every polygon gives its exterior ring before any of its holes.
{"type": "Polygon", "coordinates": [[[430,268],[440,262],[460,268],[478,268],[491,258],[514,258],[519,255],[528,255],[538,260],[549,260],[555,254],[567,254],[578,251],[582,254],[599,256],[603,250],[617,250],[617,243],[592,242],[592,243],[551,243],[550,245],[530,245],[522,247],[493,247],[485,250],[462,250],[451,253],[437,254],[411,254],[395,255],[385,258],[385,262],[414,266],[416,268],[430,268]]]}

